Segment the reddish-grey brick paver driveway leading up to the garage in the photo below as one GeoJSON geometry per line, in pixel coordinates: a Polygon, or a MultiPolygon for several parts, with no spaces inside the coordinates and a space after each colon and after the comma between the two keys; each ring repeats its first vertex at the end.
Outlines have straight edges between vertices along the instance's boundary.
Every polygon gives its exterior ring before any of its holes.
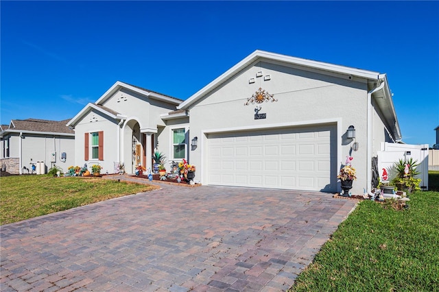
{"type": "Polygon", "coordinates": [[[355,206],[163,185],[1,227],[1,291],[281,291],[355,206]]]}

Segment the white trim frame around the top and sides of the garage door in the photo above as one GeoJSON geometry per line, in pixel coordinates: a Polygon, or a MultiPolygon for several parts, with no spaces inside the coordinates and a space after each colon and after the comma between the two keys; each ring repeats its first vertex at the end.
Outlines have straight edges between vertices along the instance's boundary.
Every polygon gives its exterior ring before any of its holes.
{"type": "MultiPolygon", "coordinates": [[[[207,178],[204,179],[204,169],[208,169],[208,165],[206,165],[206,161],[204,159],[204,148],[206,147],[206,143],[208,141],[208,134],[221,134],[221,133],[230,133],[230,132],[238,132],[238,131],[259,131],[259,130],[270,130],[270,129],[278,129],[283,127],[299,127],[303,125],[309,125],[310,127],[318,126],[318,125],[326,125],[326,124],[334,124],[337,128],[337,167],[338,163],[342,161],[342,118],[334,118],[334,119],[320,119],[320,120],[312,120],[312,121],[297,121],[291,123],[272,123],[268,125],[261,125],[261,127],[254,126],[243,126],[243,127],[224,127],[219,129],[209,129],[209,130],[201,130],[201,171],[200,171],[200,183],[207,185],[207,178]]],[[[334,175],[338,174],[338,169],[335,169],[334,175]]],[[[337,185],[338,189],[338,185],[337,185]]],[[[338,190],[340,192],[340,190],[338,190]]]]}

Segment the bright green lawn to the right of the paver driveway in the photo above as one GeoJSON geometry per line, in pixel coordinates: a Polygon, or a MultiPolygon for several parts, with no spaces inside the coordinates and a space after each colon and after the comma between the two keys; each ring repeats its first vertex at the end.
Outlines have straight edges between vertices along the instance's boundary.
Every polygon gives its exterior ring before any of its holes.
{"type": "Polygon", "coordinates": [[[292,291],[439,291],[439,193],[407,210],[364,201],[296,279],[292,291]]]}

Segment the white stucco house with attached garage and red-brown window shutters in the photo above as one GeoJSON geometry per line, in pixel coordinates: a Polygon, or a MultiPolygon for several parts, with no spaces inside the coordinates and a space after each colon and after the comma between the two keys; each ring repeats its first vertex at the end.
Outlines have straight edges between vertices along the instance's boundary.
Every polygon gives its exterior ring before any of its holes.
{"type": "Polygon", "coordinates": [[[348,155],[370,190],[380,143],[401,141],[385,74],[259,50],[185,101],[116,82],[67,125],[76,165],[133,173],[158,149],[202,184],[306,191],[340,191],[348,155]]]}

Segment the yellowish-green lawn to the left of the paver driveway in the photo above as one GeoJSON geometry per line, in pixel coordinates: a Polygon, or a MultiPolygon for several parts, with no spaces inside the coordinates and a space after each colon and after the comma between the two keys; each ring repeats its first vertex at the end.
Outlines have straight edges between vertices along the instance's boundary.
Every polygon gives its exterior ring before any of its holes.
{"type": "Polygon", "coordinates": [[[150,191],[155,186],[102,178],[14,175],[0,178],[0,225],[150,191]]]}

